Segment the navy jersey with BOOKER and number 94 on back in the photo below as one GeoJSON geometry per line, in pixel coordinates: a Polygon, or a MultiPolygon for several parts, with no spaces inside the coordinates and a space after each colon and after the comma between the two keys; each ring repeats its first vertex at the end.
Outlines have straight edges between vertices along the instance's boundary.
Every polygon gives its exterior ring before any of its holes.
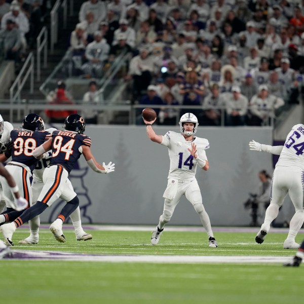
{"type": "Polygon", "coordinates": [[[52,159],[50,165],[62,165],[68,173],[71,172],[75,163],[82,153],[79,148],[82,145],[91,146],[89,136],[71,133],[67,131],[53,131],[52,159]]]}

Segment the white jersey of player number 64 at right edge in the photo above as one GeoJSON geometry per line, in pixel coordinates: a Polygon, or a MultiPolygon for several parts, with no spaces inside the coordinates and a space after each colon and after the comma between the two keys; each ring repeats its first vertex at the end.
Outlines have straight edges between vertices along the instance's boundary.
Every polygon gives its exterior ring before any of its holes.
{"type": "Polygon", "coordinates": [[[284,147],[276,167],[293,167],[296,171],[304,170],[304,125],[292,127],[286,137],[284,147]]]}

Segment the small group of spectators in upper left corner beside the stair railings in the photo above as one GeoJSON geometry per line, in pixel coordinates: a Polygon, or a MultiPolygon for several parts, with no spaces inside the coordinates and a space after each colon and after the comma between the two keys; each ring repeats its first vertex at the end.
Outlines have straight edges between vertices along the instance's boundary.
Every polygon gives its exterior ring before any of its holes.
{"type": "Polygon", "coordinates": [[[46,0],[0,0],[0,49],[7,60],[23,61],[39,34],[46,0]]]}

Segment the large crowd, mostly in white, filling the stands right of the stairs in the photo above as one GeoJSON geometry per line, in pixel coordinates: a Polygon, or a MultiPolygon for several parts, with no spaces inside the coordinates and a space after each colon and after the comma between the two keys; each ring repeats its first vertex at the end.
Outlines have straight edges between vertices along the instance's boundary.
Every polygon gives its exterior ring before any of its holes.
{"type": "Polygon", "coordinates": [[[202,125],[268,125],[299,102],[303,12],[297,0],[88,0],[70,37],[74,70],[99,79],[129,53],[121,77],[133,103],[164,105],[159,124],[191,110],[202,125]]]}

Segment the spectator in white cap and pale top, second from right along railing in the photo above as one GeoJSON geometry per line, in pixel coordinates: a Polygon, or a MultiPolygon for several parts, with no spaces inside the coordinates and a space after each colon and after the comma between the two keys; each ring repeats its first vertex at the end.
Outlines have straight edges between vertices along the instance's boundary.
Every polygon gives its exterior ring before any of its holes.
{"type": "Polygon", "coordinates": [[[241,94],[239,86],[233,86],[231,93],[225,94],[226,125],[244,126],[248,110],[248,99],[241,94]]]}

